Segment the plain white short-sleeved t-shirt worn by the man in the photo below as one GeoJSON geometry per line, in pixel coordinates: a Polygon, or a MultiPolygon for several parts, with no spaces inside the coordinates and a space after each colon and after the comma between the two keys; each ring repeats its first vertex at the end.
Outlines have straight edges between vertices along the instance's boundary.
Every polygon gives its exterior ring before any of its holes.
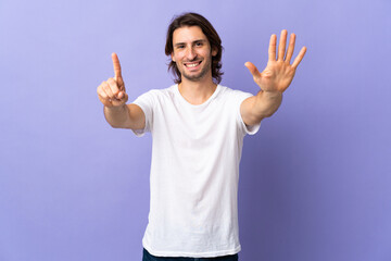
{"type": "Polygon", "coordinates": [[[239,161],[248,128],[241,102],[251,94],[218,85],[202,104],[178,85],[150,90],[134,103],[152,134],[150,213],[142,245],[157,257],[210,258],[240,251],[239,161]]]}

